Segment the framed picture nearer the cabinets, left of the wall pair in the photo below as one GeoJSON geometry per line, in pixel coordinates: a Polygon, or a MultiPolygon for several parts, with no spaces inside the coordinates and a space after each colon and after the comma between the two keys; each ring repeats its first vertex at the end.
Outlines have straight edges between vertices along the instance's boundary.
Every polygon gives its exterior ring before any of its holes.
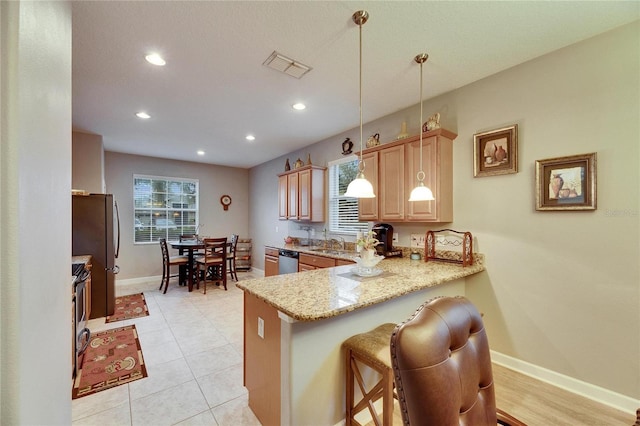
{"type": "Polygon", "coordinates": [[[518,125],[473,135],[473,176],[518,173],[518,125]]]}

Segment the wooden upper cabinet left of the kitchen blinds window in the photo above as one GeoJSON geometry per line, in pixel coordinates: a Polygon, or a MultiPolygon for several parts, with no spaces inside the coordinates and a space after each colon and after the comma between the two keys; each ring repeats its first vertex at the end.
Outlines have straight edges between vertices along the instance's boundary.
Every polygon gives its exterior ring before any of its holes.
{"type": "Polygon", "coordinates": [[[325,167],[303,166],[278,175],[278,217],[324,222],[325,167]]]}

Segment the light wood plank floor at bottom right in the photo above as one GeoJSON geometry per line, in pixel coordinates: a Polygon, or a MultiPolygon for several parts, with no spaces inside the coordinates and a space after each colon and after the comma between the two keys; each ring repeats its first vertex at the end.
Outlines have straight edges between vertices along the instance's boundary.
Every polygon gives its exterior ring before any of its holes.
{"type": "MultiPolygon", "coordinates": [[[[498,407],[528,426],[632,426],[636,420],[635,413],[618,411],[496,364],[493,379],[498,407]]],[[[398,401],[393,424],[402,425],[398,401]]]]}

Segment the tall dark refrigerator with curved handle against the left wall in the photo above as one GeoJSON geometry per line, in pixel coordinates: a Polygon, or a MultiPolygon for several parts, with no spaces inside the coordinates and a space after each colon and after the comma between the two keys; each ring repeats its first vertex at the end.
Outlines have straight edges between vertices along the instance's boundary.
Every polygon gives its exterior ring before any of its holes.
{"type": "Polygon", "coordinates": [[[91,255],[90,319],[113,315],[116,258],[120,246],[118,205],[112,194],[72,195],[72,256],[91,255]]]}

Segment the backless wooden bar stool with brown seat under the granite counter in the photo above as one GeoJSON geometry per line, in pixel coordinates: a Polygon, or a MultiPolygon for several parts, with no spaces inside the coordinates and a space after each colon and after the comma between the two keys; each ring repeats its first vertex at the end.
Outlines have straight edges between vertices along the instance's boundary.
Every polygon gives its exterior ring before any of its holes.
{"type": "Polygon", "coordinates": [[[395,327],[396,324],[382,324],[366,333],[351,336],[342,344],[346,349],[347,364],[347,426],[360,425],[355,416],[365,408],[369,409],[376,426],[393,424],[393,370],[389,344],[395,327]],[[369,390],[366,389],[361,366],[369,367],[381,375],[380,380],[369,390]],[[354,401],[354,380],[358,382],[363,395],[358,403],[354,401]],[[382,422],[373,406],[373,403],[380,398],[382,398],[382,422]]]}

